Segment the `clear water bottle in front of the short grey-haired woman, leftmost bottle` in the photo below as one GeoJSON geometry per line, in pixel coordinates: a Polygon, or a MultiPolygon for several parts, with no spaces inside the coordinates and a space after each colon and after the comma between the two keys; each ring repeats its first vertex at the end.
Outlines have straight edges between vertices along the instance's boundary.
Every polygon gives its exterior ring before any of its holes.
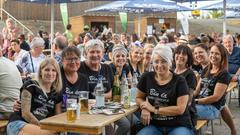
{"type": "Polygon", "coordinates": [[[104,88],[102,79],[98,79],[98,83],[94,89],[95,91],[95,98],[96,98],[96,107],[104,107],[104,88]]]}

